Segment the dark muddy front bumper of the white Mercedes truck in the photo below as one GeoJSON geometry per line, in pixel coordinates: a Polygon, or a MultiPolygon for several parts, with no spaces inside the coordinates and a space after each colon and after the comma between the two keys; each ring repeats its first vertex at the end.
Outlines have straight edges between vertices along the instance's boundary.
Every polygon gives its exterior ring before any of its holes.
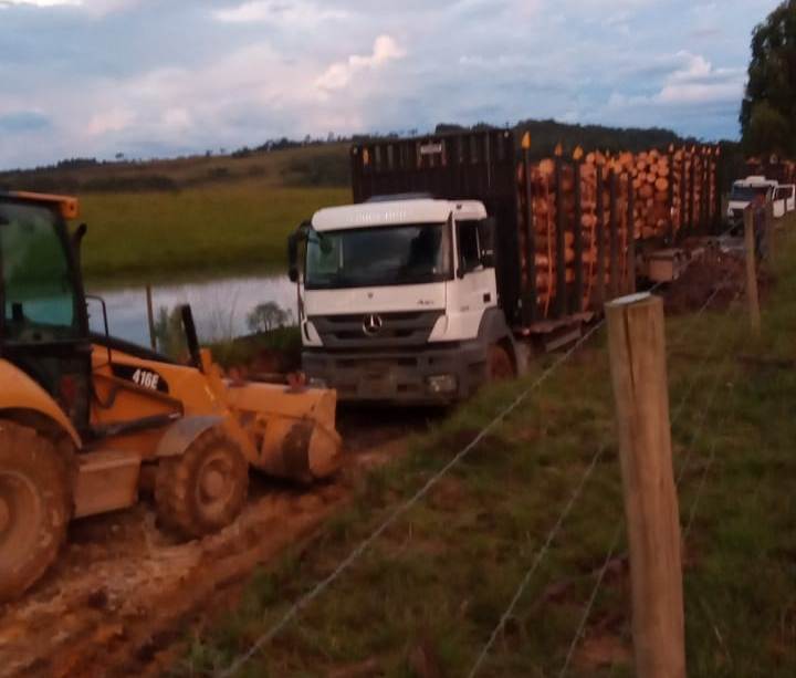
{"type": "Polygon", "coordinates": [[[417,350],[302,352],[303,371],[348,403],[446,405],[470,397],[488,378],[489,350],[479,341],[417,350]]]}

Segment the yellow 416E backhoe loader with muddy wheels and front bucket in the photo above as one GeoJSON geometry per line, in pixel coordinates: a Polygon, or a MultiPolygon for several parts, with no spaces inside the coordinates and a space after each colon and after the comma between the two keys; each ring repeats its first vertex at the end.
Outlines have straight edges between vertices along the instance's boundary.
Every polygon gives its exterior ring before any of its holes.
{"type": "Polygon", "coordinates": [[[0,192],[0,601],[56,559],[73,518],[154,489],[160,523],[196,538],[232,522],[249,468],[302,482],[338,467],[333,390],[227,382],[88,330],[74,198],[0,192]]]}

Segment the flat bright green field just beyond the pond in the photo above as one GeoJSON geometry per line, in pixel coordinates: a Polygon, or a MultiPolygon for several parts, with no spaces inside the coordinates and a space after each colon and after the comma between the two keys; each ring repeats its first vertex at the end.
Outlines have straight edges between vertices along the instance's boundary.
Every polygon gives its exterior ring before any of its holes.
{"type": "Polygon", "coordinates": [[[286,268],[287,234],[344,188],[284,188],[254,179],[177,192],[88,194],[83,270],[98,283],[268,273],[286,268]]]}

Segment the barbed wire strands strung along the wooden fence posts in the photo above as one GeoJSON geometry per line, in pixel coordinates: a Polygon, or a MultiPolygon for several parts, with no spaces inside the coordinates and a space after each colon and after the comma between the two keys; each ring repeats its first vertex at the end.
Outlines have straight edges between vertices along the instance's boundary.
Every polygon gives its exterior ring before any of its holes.
{"type": "MultiPolygon", "coordinates": [[[[729,231],[725,231],[725,233],[722,233],[722,236],[726,234],[729,231]]],[[[720,238],[722,237],[720,236],[720,238]]],[[[690,268],[694,263],[695,260],[692,260],[688,263],[687,269],[690,268]]],[[[733,273],[731,271],[727,271],[725,277],[720,281],[720,283],[715,284],[711,294],[708,296],[708,299],[703,302],[703,304],[699,307],[699,310],[693,314],[693,317],[690,319],[690,323],[696,323],[703,314],[708,311],[708,309],[711,307],[712,303],[718,298],[719,293],[722,291],[724,283],[727,282],[729,279],[733,277],[733,273]]],[[[653,285],[649,292],[654,293],[660,290],[662,286],[662,283],[658,283],[653,285]]],[[[737,301],[737,296],[727,306],[727,313],[732,307],[734,306],[735,302],[737,301]]],[[[286,612],[284,612],[280,618],[271,625],[265,633],[260,635],[254,643],[251,644],[249,649],[247,649],[244,653],[238,655],[227,668],[221,669],[216,672],[216,676],[219,678],[230,678],[234,675],[237,675],[255,655],[258,655],[264,647],[266,647],[287,625],[290,625],[304,609],[308,604],[311,604],[315,598],[317,598],[321,594],[323,594],[334,582],[339,578],[349,567],[357,562],[363,554],[376,542],[381,535],[385,534],[385,532],[394,525],[402,515],[405,515],[410,509],[412,509],[416,504],[418,504],[429,492],[430,490],[439,483],[439,481],[444,478],[449,472],[451,472],[455,467],[458,467],[467,457],[468,455],[475,449],[491,432],[495,430],[496,427],[499,427],[501,424],[503,424],[507,417],[514,413],[520,405],[522,405],[527,398],[536,392],[545,382],[547,382],[553,374],[555,374],[565,363],[567,363],[593,336],[595,336],[604,326],[606,325],[606,319],[603,317],[598,322],[596,322],[593,326],[590,326],[583,336],[575,342],[565,353],[563,353],[561,356],[558,356],[547,368],[545,368],[540,376],[534,379],[527,387],[525,387],[506,407],[504,407],[496,416],[494,416],[489,424],[486,424],[480,432],[464,447],[462,447],[444,466],[442,466],[438,471],[436,471],[421,487],[419,490],[417,490],[411,497],[409,497],[407,500],[395,507],[389,514],[386,517],[384,521],[379,523],[378,526],[376,526],[373,531],[368,533],[368,535],[363,539],[358,544],[348,553],[348,555],[339,562],[339,564],[324,578],[318,581],[310,591],[307,591],[305,594],[300,596],[289,608],[286,612]]],[[[691,324],[689,324],[683,331],[680,333],[678,338],[681,338],[687,334],[687,330],[691,327],[691,324]]],[[[702,372],[705,368],[708,361],[713,355],[713,351],[715,350],[715,346],[718,345],[720,341],[720,336],[716,335],[713,338],[713,342],[711,343],[711,348],[709,350],[705,357],[702,359],[699,366],[699,373],[694,376],[694,378],[689,383],[683,396],[681,397],[679,405],[677,409],[674,410],[674,416],[671,421],[671,426],[673,428],[675,421],[678,420],[680,413],[682,411],[682,408],[684,407],[685,401],[690,397],[691,393],[693,392],[695,384],[701,378],[702,372]]],[[[672,343],[671,345],[677,345],[678,342],[672,343]]],[[[719,379],[716,379],[718,382],[719,379]]],[[[710,397],[710,404],[712,404],[713,397],[715,396],[715,385],[714,389],[711,392],[710,397]]],[[[710,406],[710,404],[705,407],[705,409],[710,406]]],[[[704,414],[704,410],[703,410],[704,414]]],[[[704,424],[705,417],[701,419],[701,426],[704,424]]],[[[480,670],[481,666],[483,665],[484,660],[486,659],[494,642],[500,636],[502,630],[505,627],[506,622],[511,618],[514,608],[523,597],[523,594],[525,590],[527,588],[528,584],[534,577],[534,574],[538,571],[542,562],[545,560],[546,555],[551,552],[552,545],[554,543],[555,538],[561,532],[562,526],[568,515],[574,510],[575,505],[577,504],[578,500],[583,496],[583,490],[587,486],[589,479],[593,477],[595,469],[599,465],[603,456],[605,455],[606,450],[608,449],[608,442],[601,444],[594,452],[594,455],[590,458],[589,463],[587,465],[586,469],[579,477],[577,483],[575,484],[574,489],[572,490],[568,500],[564,504],[562,511],[558,513],[558,517],[556,521],[553,523],[553,526],[547,532],[544,542],[542,543],[542,546],[536,552],[536,555],[534,556],[531,566],[527,569],[525,575],[523,576],[522,581],[520,582],[520,585],[517,586],[512,599],[510,601],[505,612],[503,615],[501,615],[496,626],[493,628],[492,633],[490,634],[485,645],[483,646],[481,653],[478,655],[478,658],[475,663],[473,664],[469,677],[473,678],[480,670]]],[[[709,462],[709,463],[712,463],[709,462]]],[[[683,467],[684,468],[684,467],[683,467]]],[[[708,467],[710,468],[710,466],[708,467]]],[[[682,474],[681,469],[681,474],[682,474]]],[[[702,479],[702,482],[704,483],[706,477],[706,470],[705,474],[702,479]]],[[[694,509],[695,511],[695,504],[694,509]]],[[[689,530],[690,524],[692,522],[693,518],[691,517],[689,521],[689,530]]],[[[614,560],[616,550],[618,549],[618,545],[620,543],[620,539],[622,535],[624,525],[620,522],[617,526],[612,540],[610,543],[610,546],[606,553],[606,557],[603,561],[603,565],[597,574],[597,580],[595,583],[595,586],[593,587],[591,594],[586,603],[586,607],[584,609],[584,614],[580,617],[580,622],[578,624],[578,627],[576,629],[575,636],[569,644],[567,655],[565,663],[562,667],[559,676],[565,676],[568,667],[570,665],[570,661],[574,657],[575,650],[577,648],[577,645],[579,643],[579,639],[583,635],[583,632],[587,625],[588,617],[590,614],[591,608],[594,607],[594,604],[598,597],[599,590],[601,587],[601,584],[605,580],[605,575],[608,571],[608,567],[610,563],[614,560]]]]}

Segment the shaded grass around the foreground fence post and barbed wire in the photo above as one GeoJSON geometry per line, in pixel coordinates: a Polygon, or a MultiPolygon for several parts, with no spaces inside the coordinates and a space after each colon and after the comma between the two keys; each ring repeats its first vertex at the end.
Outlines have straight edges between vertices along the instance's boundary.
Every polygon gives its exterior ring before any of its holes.
{"type": "MultiPolygon", "coordinates": [[[[789,223],[796,229],[796,220],[789,223]]],[[[796,234],[781,234],[764,336],[743,304],[667,321],[690,676],[796,675],[796,234]],[[740,361],[750,354],[764,361],[740,361]],[[769,359],[771,358],[771,359],[769,359]]],[[[545,366],[483,393],[359,481],[350,508],[250,582],[175,675],[228,666],[545,366]]],[[[631,676],[612,397],[600,332],[239,674],[467,676],[596,451],[589,482],[479,676],[558,676],[619,530],[569,676],[631,676]],[[366,664],[363,664],[366,663],[366,664]],[[375,668],[374,668],[375,667],[375,668]],[[348,672],[346,672],[348,671],[348,672]]]]}

